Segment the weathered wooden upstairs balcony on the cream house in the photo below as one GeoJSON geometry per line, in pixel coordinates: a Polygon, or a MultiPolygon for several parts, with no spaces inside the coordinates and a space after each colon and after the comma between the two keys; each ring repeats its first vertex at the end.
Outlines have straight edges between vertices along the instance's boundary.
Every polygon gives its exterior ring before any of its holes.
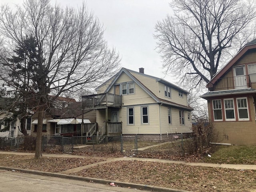
{"type": "Polygon", "coordinates": [[[101,93],[82,96],[82,109],[104,109],[107,107],[122,107],[122,96],[111,93],[101,93]]]}

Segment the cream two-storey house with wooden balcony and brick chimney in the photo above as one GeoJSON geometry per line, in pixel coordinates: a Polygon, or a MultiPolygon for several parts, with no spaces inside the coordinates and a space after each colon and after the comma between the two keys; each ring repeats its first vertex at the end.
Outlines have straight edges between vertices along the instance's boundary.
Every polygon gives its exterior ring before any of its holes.
{"type": "Polygon", "coordinates": [[[82,96],[84,110],[96,109],[101,134],[162,135],[192,132],[187,92],[161,78],[122,68],[96,90],[82,96]]]}

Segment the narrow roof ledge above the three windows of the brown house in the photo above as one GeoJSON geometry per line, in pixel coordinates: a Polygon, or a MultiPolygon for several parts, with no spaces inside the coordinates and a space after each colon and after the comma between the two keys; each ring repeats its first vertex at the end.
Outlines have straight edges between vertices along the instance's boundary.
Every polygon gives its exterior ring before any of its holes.
{"type": "Polygon", "coordinates": [[[230,90],[220,90],[220,91],[210,91],[203,95],[201,95],[201,98],[210,98],[210,97],[216,97],[216,96],[226,96],[226,95],[238,95],[238,94],[251,94],[256,93],[256,89],[252,88],[244,88],[244,89],[230,89],[230,90]]]}

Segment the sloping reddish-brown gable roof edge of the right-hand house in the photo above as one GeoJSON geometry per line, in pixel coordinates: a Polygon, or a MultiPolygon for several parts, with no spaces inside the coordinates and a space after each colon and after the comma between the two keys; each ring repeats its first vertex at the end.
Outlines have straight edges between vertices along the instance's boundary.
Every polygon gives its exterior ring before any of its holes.
{"type": "Polygon", "coordinates": [[[206,85],[208,88],[210,84],[214,84],[221,78],[248,50],[256,48],[256,39],[248,42],[206,85]]]}

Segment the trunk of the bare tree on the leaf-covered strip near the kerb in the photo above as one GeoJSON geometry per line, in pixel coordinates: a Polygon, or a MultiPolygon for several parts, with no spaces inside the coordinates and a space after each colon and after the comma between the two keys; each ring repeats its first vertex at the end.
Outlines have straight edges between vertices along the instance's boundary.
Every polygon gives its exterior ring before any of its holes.
{"type": "Polygon", "coordinates": [[[40,107],[38,111],[38,124],[36,133],[36,153],[35,159],[42,157],[42,131],[43,131],[44,107],[40,107]]]}

